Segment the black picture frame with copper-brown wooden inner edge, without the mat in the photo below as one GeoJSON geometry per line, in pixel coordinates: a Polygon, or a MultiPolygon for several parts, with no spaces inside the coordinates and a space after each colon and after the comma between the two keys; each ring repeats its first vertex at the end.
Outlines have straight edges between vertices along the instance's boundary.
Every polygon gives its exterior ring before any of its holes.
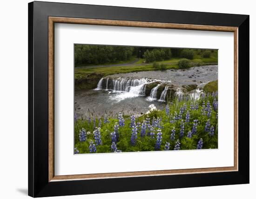
{"type": "Polygon", "coordinates": [[[28,25],[30,196],[249,183],[248,15],[31,2],[28,4],[28,25]],[[234,166],[55,175],[54,23],[234,33],[234,166]]]}

